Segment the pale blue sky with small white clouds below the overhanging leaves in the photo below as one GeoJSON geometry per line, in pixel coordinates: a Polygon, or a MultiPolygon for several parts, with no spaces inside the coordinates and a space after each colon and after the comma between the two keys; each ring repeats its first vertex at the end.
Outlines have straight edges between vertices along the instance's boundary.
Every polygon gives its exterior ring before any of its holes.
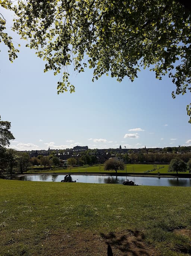
{"type": "MultiPolygon", "coordinates": [[[[12,32],[11,32],[12,33],[12,32]]],[[[72,148],[142,148],[191,145],[186,105],[190,94],[172,99],[168,77],[156,80],[143,70],[132,83],[103,76],[91,82],[92,70],[71,76],[76,92],[57,95],[59,76],[44,73],[45,62],[21,43],[10,63],[0,45],[0,115],[11,122],[16,150],[72,148]]]]}

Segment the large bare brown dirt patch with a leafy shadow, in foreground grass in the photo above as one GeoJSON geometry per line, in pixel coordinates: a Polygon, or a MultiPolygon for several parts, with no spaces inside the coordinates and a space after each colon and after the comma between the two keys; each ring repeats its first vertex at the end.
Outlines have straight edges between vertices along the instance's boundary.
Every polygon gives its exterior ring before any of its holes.
{"type": "Polygon", "coordinates": [[[42,244],[42,254],[49,256],[107,256],[108,245],[112,249],[113,256],[159,255],[156,249],[144,242],[142,232],[131,230],[99,235],[90,231],[78,230],[65,233],[60,230],[48,234],[42,244]]]}

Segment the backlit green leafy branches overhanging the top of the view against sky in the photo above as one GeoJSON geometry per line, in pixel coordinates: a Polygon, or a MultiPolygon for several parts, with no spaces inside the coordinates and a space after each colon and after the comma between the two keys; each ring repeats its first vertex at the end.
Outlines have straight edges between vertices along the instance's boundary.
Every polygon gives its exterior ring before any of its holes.
{"type": "MultiPolygon", "coordinates": [[[[191,6],[184,0],[0,0],[16,16],[13,30],[26,46],[46,61],[44,72],[59,75],[57,92],[75,91],[67,67],[93,69],[93,81],[103,74],[131,81],[149,67],[156,78],[168,75],[172,92],[191,91],[191,6]]],[[[0,37],[16,57],[0,17],[0,37]]],[[[187,105],[191,117],[191,104],[187,105]]],[[[190,121],[191,123],[191,118],[190,121]]]]}

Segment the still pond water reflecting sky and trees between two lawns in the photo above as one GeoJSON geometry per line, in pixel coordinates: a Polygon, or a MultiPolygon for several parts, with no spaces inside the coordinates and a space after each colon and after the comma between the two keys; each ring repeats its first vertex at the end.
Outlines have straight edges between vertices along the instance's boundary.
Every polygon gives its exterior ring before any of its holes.
{"type": "MultiPolygon", "coordinates": [[[[15,180],[25,181],[54,181],[60,182],[65,175],[23,175],[16,177],[15,180]]],[[[145,186],[181,186],[190,187],[190,178],[163,178],[163,177],[128,177],[128,176],[104,176],[104,175],[71,175],[72,180],[82,183],[109,183],[122,184],[126,179],[134,181],[136,185],[145,186]]]]}

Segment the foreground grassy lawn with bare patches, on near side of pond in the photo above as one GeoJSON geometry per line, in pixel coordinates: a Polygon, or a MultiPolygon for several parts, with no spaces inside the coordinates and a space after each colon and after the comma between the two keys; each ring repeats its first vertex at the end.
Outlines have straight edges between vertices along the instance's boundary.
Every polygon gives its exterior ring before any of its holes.
{"type": "Polygon", "coordinates": [[[190,209],[190,187],[0,180],[0,255],[190,255],[190,209]]]}

